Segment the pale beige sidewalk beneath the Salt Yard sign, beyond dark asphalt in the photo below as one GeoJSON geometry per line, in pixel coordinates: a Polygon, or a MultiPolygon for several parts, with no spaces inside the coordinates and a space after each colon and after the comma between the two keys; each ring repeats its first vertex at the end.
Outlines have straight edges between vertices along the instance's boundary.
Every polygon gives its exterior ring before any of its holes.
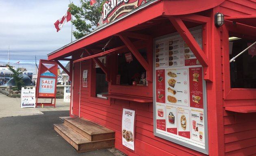
{"type": "MultiPolygon", "coordinates": [[[[50,102],[50,99],[39,99],[38,102],[50,102]]],[[[55,108],[52,106],[21,108],[20,98],[9,98],[0,93],[0,118],[40,115],[43,114],[41,111],[69,111],[69,104],[69,102],[63,102],[63,99],[56,99],[55,108]]]]}

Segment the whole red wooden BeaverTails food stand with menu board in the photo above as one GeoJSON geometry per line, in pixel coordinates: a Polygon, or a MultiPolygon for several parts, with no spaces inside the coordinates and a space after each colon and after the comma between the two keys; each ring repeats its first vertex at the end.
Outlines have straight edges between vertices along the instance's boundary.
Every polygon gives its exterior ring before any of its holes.
{"type": "Polygon", "coordinates": [[[108,24],[48,54],[48,60],[59,65],[60,60],[70,61],[71,70],[65,71],[72,77],[70,116],[84,117],[114,130],[115,147],[129,156],[256,154],[256,57],[252,57],[256,55],[255,47],[230,63],[231,58],[256,41],[255,0],[130,1],[137,5],[123,8],[131,9],[129,13],[115,17],[122,4],[106,9],[103,20],[108,20],[108,24]],[[217,13],[224,15],[222,26],[215,25],[217,13]],[[132,61],[126,60],[127,55],[132,55],[132,61]],[[190,77],[194,69],[197,76],[190,77]],[[171,76],[176,77],[174,85],[182,85],[184,77],[179,78],[180,72],[189,72],[184,80],[184,85],[189,85],[183,90],[184,96],[177,88],[174,93],[171,84],[168,86],[169,73],[176,74],[171,76]],[[165,87],[158,88],[161,84],[165,87]],[[199,92],[195,89],[197,96],[193,98],[191,85],[201,88],[199,92]],[[200,98],[202,105],[198,105],[200,98]],[[180,116],[180,109],[186,107],[188,116],[180,116]],[[137,114],[135,151],[122,145],[123,108],[137,114]],[[176,116],[175,123],[181,123],[181,127],[176,125],[181,133],[169,135],[167,110],[173,108],[176,113],[169,115],[176,116]],[[161,110],[165,115],[161,115],[161,110]],[[201,114],[193,111],[204,113],[206,121],[196,124],[202,128],[204,141],[192,122],[200,119],[201,114]],[[161,127],[158,118],[163,116],[161,127]],[[182,132],[186,126],[190,130],[187,134],[182,132]],[[189,137],[181,139],[183,134],[189,137]]]}

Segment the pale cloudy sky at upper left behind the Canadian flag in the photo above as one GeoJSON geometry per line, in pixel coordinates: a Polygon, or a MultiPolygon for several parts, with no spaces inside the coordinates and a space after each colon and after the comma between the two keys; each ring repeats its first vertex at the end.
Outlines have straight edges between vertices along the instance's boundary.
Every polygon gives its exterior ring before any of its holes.
{"type": "Polygon", "coordinates": [[[71,22],[59,32],[54,27],[68,4],[69,0],[0,0],[0,65],[7,64],[10,46],[10,65],[17,68],[20,61],[19,67],[35,72],[35,56],[38,65],[39,59],[70,43],[71,22]]]}

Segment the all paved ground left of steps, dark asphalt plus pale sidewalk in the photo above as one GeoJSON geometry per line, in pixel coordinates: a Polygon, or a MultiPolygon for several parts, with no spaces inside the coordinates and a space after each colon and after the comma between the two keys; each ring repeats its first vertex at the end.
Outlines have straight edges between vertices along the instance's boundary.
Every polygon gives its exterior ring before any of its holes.
{"type": "Polygon", "coordinates": [[[124,156],[115,148],[78,154],[53,129],[65,116],[69,103],[63,99],[56,108],[20,108],[20,98],[0,93],[0,156],[124,156]]]}

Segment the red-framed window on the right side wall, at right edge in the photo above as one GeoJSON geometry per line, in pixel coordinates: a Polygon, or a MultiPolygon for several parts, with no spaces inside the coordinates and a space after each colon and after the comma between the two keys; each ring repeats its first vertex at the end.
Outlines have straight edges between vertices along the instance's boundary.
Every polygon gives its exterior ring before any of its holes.
{"type": "MultiPolygon", "coordinates": [[[[250,100],[256,94],[255,45],[237,56],[254,43],[255,34],[245,25],[227,23],[222,30],[223,86],[225,100],[250,100]],[[235,61],[230,62],[232,58],[235,61]]],[[[239,105],[233,101],[234,105],[239,105]]]]}

